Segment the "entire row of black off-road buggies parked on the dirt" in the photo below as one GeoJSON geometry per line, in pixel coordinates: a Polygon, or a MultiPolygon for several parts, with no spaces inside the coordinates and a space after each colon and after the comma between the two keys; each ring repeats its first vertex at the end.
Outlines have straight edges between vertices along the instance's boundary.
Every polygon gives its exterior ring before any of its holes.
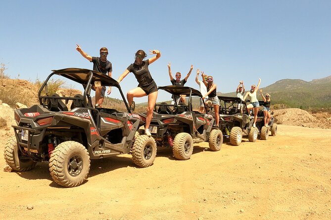
{"type": "MultiPolygon", "coordinates": [[[[177,86],[159,89],[176,96],[186,95],[188,104],[156,104],[149,127],[152,136],[149,137],[140,129],[146,114],[132,113],[116,80],[87,69],[53,71],[39,90],[40,104],[14,110],[14,137],[5,146],[4,159],[15,171],[28,171],[37,162],[47,162],[55,183],[73,187],[87,179],[91,159],[128,153],[132,154],[137,166],[148,167],[154,162],[157,147],[171,147],[177,159],[187,160],[196,143],[208,142],[210,149],[217,151],[221,149],[224,137],[238,146],[245,135],[252,142],[259,134],[263,140],[269,136],[269,129],[263,126],[263,113],[259,112],[257,126],[253,128],[246,103],[238,98],[219,97],[222,107],[218,112],[220,126],[215,127],[217,112],[207,106],[206,113],[192,108],[192,99],[202,98],[199,91],[177,86]],[[60,97],[48,94],[47,85],[53,76],[65,77],[82,85],[83,95],[60,97]],[[94,86],[117,88],[126,112],[95,108],[90,95],[94,86]]],[[[269,126],[271,134],[276,135],[277,124],[273,118],[269,126]]]]}

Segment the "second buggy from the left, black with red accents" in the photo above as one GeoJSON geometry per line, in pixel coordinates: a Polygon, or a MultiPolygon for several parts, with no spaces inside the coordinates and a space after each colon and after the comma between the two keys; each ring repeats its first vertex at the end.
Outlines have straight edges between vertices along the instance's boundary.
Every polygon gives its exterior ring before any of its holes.
{"type": "MultiPolygon", "coordinates": [[[[220,150],[223,143],[222,132],[213,127],[214,118],[208,113],[200,113],[192,109],[192,96],[202,98],[201,93],[190,87],[162,86],[160,90],[172,95],[186,95],[188,103],[156,104],[149,130],[158,147],[171,147],[177,159],[190,158],[193,145],[209,141],[211,150],[220,150]]],[[[146,114],[141,114],[146,117],[146,114]]]]}

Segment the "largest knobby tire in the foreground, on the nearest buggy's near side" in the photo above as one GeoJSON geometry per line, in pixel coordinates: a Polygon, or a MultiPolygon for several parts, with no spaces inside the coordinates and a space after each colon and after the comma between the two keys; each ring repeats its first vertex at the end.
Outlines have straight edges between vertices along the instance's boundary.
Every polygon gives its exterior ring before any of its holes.
{"type": "Polygon", "coordinates": [[[78,186],[87,179],[90,163],[90,155],[82,144],[62,142],[55,147],[49,158],[50,176],[59,185],[78,186]]]}

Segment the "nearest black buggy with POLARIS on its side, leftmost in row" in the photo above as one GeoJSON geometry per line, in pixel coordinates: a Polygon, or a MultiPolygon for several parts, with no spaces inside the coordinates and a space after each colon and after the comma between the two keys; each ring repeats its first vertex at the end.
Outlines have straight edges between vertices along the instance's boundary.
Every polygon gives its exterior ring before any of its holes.
{"type": "Polygon", "coordinates": [[[156,156],[156,144],[135,132],[143,124],[132,114],[121,87],[113,78],[86,69],[69,68],[50,73],[39,90],[40,105],[14,112],[17,125],[13,138],[4,149],[6,163],[16,171],[27,171],[37,162],[49,162],[51,178],[59,185],[82,184],[90,170],[90,159],[131,153],[140,167],[150,166],[156,156]],[[65,77],[83,86],[84,94],[74,97],[48,95],[51,76],[65,77]],[[127,112],[97,108],[90,96],[93,86],[112,86],[119,90],[127,112]],[[46,95],[42,95],[46,92],[46,95]],[[71,104],[71,110],[65,103],[71,104]],[[64,102],[65,103],[64,103],[64,102]]]}

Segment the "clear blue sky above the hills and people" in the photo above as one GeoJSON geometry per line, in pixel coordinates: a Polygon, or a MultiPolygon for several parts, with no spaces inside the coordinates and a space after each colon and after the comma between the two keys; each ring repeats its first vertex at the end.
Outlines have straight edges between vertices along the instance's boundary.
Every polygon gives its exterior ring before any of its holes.
{"type": "MultiPolygon", "coordinates": [[[[284,78],[331,75],[330,0],[1,0],[0,5],[0,63],[12,78],[44,80],[50,70],[92,69],[76,43],[91,56],[106,46],[115,79],[138,49],[160,50],[161,58],[149,67],[158,86],[170,84],[168,62],[182,75],[194,65],[186,85],[198,88],[199,68],[213,75],[223,93],[234,91],[239,80],[248,88],[259,77],[265,87],[284,78]]],[[[132,73],[121,82],[124,93],[137,85],[132,73]]]]}

